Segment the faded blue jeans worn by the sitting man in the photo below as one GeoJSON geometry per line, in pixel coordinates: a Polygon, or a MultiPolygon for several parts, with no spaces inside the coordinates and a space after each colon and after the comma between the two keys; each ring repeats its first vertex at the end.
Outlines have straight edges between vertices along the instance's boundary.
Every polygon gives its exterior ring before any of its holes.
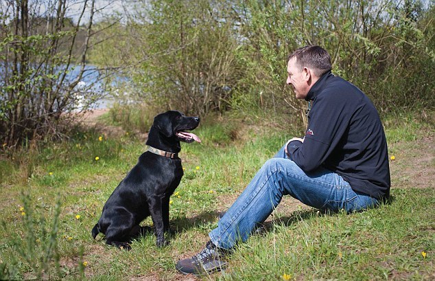
{"type": "Polygon", "coordinates": [[[325,168],[305,173],[288,159],[284,146],[266,161],[244,192],[220,218],[209,236],[218,247],[231,249],[237,241],[246,241],[261,225],[284,195],[320,210],[355,212],[378,205],[378,200],[352,190],[349,183],[325,168]]]}

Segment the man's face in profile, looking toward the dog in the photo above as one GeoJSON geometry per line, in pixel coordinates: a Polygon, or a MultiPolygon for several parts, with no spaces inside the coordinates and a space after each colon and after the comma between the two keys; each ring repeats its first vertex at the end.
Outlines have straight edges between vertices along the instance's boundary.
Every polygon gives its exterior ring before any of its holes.
{"type": "Polygon", "coordinates": [[[287,85],[292,85],[296,98],[305,99],[309,89],[309,71],[305,67],[300,70],[296,65],[296,57],[291,58],[287,63],[287,85]]]}

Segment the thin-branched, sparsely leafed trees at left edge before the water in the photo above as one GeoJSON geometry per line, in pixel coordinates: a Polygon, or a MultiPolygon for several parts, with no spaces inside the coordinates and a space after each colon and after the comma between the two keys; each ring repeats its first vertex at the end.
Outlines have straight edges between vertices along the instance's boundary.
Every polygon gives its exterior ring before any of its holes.
{"type": "MultiPolygon", "coordinates": [[[[104,83],[93,87],[96,78],[78,87],[89,72],[97,73],[86,67],[92,21],[80,26],[80,14],[73,24],[65,17],[68,2],[0,6],[0,139],[10,148],[25,139],[64,137],[75,118],[65,113],[89,109],[102,95],[104,83]]],[[[93,14],[95,1],[90,2],[93,14]]],[[[85,4],[79,5],[86,10],[85,4]]]]}

